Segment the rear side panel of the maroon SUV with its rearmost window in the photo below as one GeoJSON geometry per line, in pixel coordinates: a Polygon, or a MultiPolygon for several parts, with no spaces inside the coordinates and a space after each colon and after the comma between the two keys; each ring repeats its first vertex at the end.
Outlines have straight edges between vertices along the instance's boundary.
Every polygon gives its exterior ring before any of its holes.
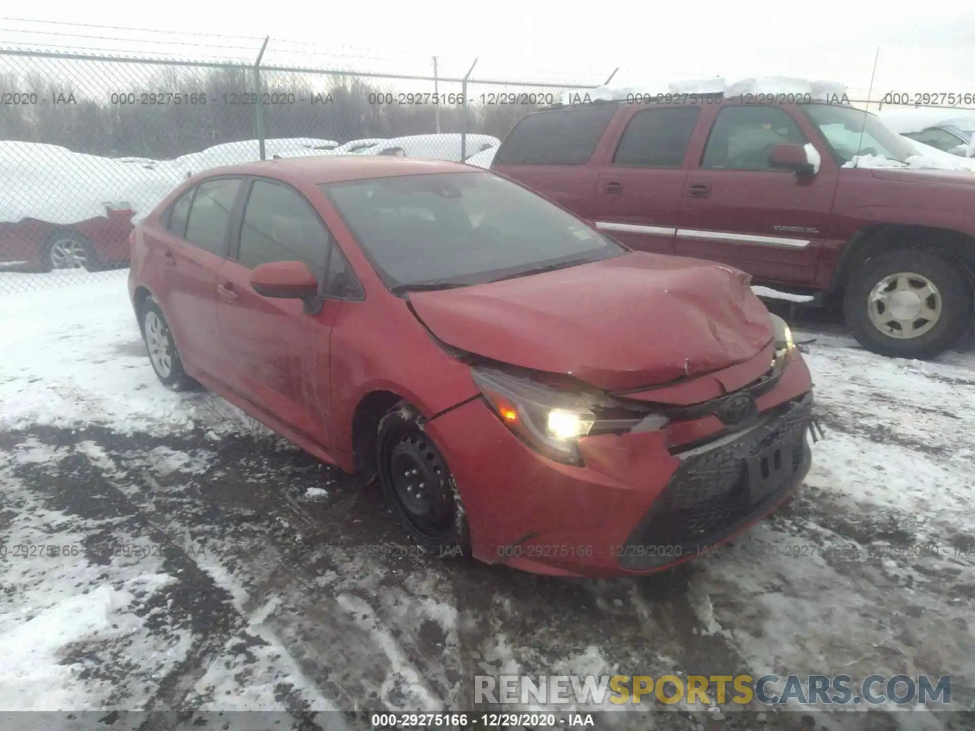
{"type": "Polygon", "coordinates": [[[617,110],[587,104],[529,114],[498,148],[491,170],[591,218],[598,169],[587,163],[617,110]]]}

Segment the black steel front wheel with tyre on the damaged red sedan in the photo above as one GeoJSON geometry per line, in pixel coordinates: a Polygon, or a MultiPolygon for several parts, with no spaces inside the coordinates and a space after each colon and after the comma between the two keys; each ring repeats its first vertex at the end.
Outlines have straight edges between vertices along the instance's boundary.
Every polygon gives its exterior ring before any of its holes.
{"type": "Polygon", "coordinates": [[[444,555],[468,555],[467,518],[437,445],[422,428],[422,418],[405,402],[379,422],[376,465],[386,500],[409,537],[444,555]]]}

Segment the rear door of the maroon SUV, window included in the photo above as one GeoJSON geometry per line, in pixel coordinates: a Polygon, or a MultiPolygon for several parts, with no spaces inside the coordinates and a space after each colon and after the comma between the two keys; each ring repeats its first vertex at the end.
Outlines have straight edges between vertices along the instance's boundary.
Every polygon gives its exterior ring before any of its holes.
{"type": "Polygon", "coordinates": [[[626,125],[597,176],[593,219],[624,244],[674,253],[684,157],[701,109],[653,106],[627,110],[626,125]]]}

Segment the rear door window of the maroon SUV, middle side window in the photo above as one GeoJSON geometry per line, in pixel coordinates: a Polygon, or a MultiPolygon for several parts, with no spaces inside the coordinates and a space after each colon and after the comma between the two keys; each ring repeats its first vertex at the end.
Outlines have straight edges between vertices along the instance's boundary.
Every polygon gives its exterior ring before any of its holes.
{"type": "Polygon", "coordinates": [[[680,168],[700,112],[696,106],[637,112],[619,140],[613,165],[680,168]]]}

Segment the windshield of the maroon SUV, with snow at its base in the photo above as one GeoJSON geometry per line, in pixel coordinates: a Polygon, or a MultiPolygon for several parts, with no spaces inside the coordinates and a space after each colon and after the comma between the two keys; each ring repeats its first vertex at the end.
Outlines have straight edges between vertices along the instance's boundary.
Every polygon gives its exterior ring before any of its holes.
{"type": "Polygon", "coordinates": [[[861,109],[840,104],[804,104],[801,108],[826,137],[840,164],[852,161],[856,155],[902,162],[917,155],[917,150],[901,135],[861,109]]]}

